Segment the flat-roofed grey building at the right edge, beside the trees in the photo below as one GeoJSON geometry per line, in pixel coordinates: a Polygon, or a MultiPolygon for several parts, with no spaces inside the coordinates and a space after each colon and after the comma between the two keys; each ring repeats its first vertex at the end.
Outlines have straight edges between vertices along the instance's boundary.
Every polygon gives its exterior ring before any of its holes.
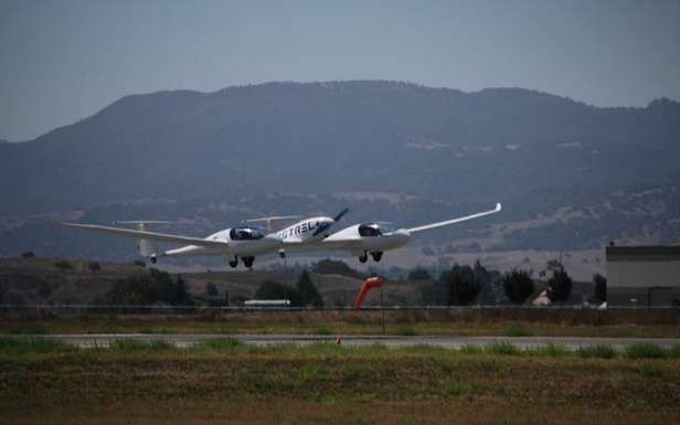
{"type": "Polygon", "coordinates": [[[609,306],[680,307],[680,246],[607,246],[609,306]]]}

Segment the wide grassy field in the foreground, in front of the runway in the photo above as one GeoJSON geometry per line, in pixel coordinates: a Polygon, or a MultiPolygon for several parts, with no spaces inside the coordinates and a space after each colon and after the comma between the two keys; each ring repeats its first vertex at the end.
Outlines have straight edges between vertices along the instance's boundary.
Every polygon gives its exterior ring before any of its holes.
{"type": "Polygon", "coordinates": [[[669,424],[680,350],[76,349],[0,339],[7,424],[669,424]]]}

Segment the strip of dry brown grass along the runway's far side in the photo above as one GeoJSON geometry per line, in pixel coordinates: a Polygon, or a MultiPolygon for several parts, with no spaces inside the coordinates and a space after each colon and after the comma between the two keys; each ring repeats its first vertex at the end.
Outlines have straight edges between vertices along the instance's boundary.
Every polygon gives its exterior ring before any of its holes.
{"type": "MultiPolygon", "coordinates": [[[[433,336],[680,338],[680,311],[389,310],[386,332],[433,336]]],[[[263,311],[196,315],[89,315],[0,320],[0,333],[318,333],[376,334],[381,312],[263,311]]]]}

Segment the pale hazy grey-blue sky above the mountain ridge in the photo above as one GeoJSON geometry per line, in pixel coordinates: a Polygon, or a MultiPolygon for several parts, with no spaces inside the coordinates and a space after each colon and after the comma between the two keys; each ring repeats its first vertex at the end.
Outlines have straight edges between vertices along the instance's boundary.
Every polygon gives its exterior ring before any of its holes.
{"type": "Polygon", "coordinates": [[[0,138],[135,93],[268,81],[680,99],[680,0],[0,0],[0,138]]]}

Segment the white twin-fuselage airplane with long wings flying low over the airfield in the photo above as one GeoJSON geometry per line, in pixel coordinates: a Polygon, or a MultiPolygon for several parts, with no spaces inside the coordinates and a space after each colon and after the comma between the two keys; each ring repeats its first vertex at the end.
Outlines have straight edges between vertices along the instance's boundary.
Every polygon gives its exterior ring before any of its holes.
{"type": "Polygon", "coordinates": [[[425,224],[411,229],[400,229],[387,222],[370,222],[354,224],[339,232],[330,233],[330,229],[347,212],[342,210],[334,217],[315,216],[305,219],[279,231],[273,231],[273,223],[290,220],[296,216],[276,216],[246,220],[246,222],[266,222],[268,230],[253,225],[242,225],[225,229],[212,235],[200,238],[181,236],[167,233],[149,232],[147,225],[166,223],[156,221],[118,222],[120,224],[137,224],[137,230],[110,227],[97,224],[63,223],[66,226],[84,229],[93,232],[102,232],[139,240],[139,254],[156,264],[158,257],[187,256],[187,255],[221,255],[229,259],[232,267],[236,267],[238,258],[244,266],[251,268],[258,255],[277,253],[285,256],[286,253],[304,252],[349,252],[365,263],[369,254],[375,262],[380,262],[383,252],[396,249],[406,245],[414,233],[438,229],[468,220],[479,219],[485,215],[497,213],[501,210],[500,203],[493,210],[482,211],[471,215],[446,220],[437,223],[425,224]],[[183,244],[184,246],[156,253],[150,241],[183,244]]]}

